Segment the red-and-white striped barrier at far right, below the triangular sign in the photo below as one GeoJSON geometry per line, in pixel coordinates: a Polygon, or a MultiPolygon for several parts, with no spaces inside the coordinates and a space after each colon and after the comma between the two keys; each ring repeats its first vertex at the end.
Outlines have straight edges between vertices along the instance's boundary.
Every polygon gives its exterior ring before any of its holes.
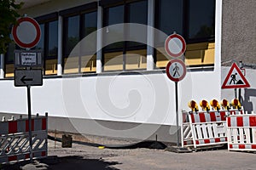
{"type": "Polygon", "coordinates": [[[227,122],[228,149],[256,151],[256,115],[230,115],[227,122]]]}

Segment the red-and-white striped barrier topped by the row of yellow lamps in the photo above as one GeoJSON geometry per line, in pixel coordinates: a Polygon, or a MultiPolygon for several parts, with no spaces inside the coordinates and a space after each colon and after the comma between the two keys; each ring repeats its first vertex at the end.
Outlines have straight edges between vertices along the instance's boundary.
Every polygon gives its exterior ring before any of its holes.
{"type": "MultiPolygon", "coordinates": [[[[185,114],[183,112],[183,114],[185,114]]],[[[185,147],[226,144],[226,112],[189,112],[189,122],[183,122],[182,144],[185,147]]]]}

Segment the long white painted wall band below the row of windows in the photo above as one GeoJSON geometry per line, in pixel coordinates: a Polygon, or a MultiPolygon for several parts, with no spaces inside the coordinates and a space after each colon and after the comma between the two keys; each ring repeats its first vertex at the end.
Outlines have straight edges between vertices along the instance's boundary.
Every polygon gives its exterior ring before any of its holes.
{"type": "MultiPolygon", "coordinates": [[[[146,72],[145,72],[146,73],[146,72]]],[[[44,79],[32,87],[32,114],[175,125],[174,82],[166,74],[104,75],[44,79]]],[[[188,101],[220,99],[218,73],[189,72],[178,83],[179,110],[188,101]]],[[[26,88],[0,81],[1,112],[26,113],[26,88]]]]}

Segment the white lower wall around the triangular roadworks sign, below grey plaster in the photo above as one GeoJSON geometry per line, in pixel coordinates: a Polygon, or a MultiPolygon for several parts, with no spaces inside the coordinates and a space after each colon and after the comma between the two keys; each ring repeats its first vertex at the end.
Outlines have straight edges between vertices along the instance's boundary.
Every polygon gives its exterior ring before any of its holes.
{"type": "MultiPolygon", "coordinates": [[[[222,83],[224,82],[225,77],[230,71],[230,67],[222,67],[221,79],[222,83]]],[[[242,88],[241,96],[242,101],[241,104],[244,106],[245,111],[256,111],[256,70],[246,69],[246,78],[247,82],[250,84],[250,88],[242,88]]],[[[237,90],[238,91],[238,90],[237,90]]],[[[228,99],[231,101],[235,98],[235,90],[234,89],[222,89],[221,98],[228,99]]]]}

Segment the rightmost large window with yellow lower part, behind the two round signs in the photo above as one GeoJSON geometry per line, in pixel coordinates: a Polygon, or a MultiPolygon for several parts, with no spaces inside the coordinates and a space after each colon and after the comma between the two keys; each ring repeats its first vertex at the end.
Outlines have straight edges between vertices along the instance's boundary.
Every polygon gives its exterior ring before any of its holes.
{"type": "MultiPolygon", "coordinates": [[[[155,26],[171,35],[174,31],[187,42],[186,65],[214,65],[215,0],[158,0],[155,26]]],[[[164,52],[166,37],[155,35],[155,65],[165,68],[169,59],[164,52]]]]}

